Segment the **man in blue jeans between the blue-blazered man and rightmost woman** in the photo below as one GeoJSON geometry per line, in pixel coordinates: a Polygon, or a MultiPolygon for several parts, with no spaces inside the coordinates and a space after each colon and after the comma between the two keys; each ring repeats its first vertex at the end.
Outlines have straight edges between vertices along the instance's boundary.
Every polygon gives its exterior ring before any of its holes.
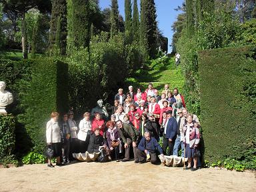
{"type": "Polygon", "coordinates": [[[177,118],[177,132],[176,132],[176,139],[173,147],[173,155],[178,156],[179,148],[181,147],[181,157],[184,157],[184,145],[183,139],[181,139],[181,134],[183,135],[183,126],[181,125],[181,119],[183,119],[182,109],[178,109],[177,111],[179,118],[177,118]]]}

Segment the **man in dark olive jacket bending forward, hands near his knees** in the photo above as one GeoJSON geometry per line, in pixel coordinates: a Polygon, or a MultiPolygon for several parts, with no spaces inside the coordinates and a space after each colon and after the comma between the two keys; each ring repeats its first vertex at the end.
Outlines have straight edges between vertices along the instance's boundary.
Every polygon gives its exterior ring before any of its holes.
{"type": "Polygon", "coordinates": [[[130,124],[123,123],[120,120],[117,121],[116,127],[118,128],[118,131],[120,133],[121,139],[123,140],[123,143],[125,143],[124,145],[125,159],[123,159],[122,162],[130,161],[131,145],[133,146],[133,154],[134,154],[135,162],[138,162],[139,159],[136,154],[136,149],[137,149],[136,142],[139,138],[139,133],[137,132],[137,129],[130,124]]]}

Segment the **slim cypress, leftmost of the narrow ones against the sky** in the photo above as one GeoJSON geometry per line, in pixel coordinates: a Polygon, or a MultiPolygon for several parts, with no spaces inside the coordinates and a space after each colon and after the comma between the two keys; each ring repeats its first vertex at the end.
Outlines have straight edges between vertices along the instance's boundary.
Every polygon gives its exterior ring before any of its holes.
{"type": "Polygon", "coordinates": [[[110,15],[110,22],[111,22],[111,29],[110,35],[113,37],[118,33],[118,4],[117,0],[111,0],[111,15],[110,15]]]}

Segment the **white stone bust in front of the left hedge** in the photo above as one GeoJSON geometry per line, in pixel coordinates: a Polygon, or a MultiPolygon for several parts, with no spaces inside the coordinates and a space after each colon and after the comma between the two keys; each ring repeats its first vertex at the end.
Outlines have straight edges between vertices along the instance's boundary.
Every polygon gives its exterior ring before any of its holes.
{"type": "Polygon", "coordinates": [[[7,113],[5,107],[13,103],[13,94],[9,91],[5,91],[6,84],[4,81],[0,81],[0,113],[7,113]]]}

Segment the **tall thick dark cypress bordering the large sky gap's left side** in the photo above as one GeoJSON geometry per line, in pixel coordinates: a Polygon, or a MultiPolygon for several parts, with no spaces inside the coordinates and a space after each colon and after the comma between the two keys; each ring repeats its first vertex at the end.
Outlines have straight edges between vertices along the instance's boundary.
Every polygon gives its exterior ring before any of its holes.
{"type": "Polygon", "coordinates": [[[141,25],[140,42],[141,46],[149,57],[155,57],[157,48],[157,15],[154,0],[141,1],[141,25]]]}

